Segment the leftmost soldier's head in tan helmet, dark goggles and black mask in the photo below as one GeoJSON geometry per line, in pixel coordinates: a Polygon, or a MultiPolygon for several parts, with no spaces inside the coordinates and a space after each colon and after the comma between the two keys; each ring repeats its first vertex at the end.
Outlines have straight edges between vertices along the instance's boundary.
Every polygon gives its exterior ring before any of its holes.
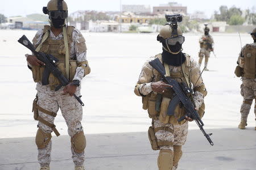
{"type": "Polygon", "coordinates": [[[63,0],[49,1],[47,7],[43,7],[43,12],[49,15],[49,23],[56,28],[63,27],[68,18],[68,6],[63,0]]]}

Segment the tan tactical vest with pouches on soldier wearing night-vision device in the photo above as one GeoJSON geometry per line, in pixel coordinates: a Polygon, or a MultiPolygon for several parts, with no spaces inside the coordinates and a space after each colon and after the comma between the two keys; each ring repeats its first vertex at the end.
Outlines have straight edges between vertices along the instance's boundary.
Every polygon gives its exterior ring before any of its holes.
{"type": "MultiPolygon", "coordinates": [[[[162,55],[158,54],[156,56],[160,59],[162,62],[162,55]]],[[[191,73],[190,73],[190,67],[191,67],[191,60],[188,55],[185,56],[186,60],[181,66],[181,70],[177,73],[170,72],[171,78],[174,78],[178,82],[184,82],[187,84],[187,86],[191,87],[191,73]]],[[[169,67],[168,67],[169,69],[169,67]]],[[[166,68],[167,70],[167,68],[166,68]]],[[[170,70],[170,69],[169,69],[170,70]]],[[[153,69],[154,79],[153,82],[158,82],[161,78],[155,69],[153,69]]],[[[150,118],[156,119],[159,117],[159,120],[163,122],[164,124],[171,123],[171,124],[184,124],[185,120],[178,122],[177,120],[185,115],[185,108],[179,104],[175,108],[175,113],[173,116],[167,116],[167,108],[170,104],[170,101],[173,99],[174,91],[169,90],[164,92],[163,94],[156,94],[155,92],[151,92],[149,95],[142,97],[142,103],[143,103],[143,109],[147,109],[148,116],[150,118]]],[[[204,113],[204,104],[202,104],[201,108],[199,109],[199,112],[204,113]]],[[[203,115],[203,113],[199,113],[203,115]]]]}

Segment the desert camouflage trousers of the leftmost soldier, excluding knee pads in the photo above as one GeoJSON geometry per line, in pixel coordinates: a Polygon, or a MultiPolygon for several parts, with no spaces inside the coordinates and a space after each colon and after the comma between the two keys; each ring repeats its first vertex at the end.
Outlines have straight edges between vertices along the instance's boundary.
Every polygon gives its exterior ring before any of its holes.
{"type": "MultiPolygon", "coordinates": [[[[73,135],[83,130],[81,125],[82,106],[75,97],[61,95],[63,88],[59,91],[51,91],[48,86],[42,86],[39,83],[36,86],[36,90],[38,91],[38,105],[40,107],[55,113],[57,113],[60,108],[62,116],[68,126],[68,134],[70,137],[73,137],[73,135]]],[[[77,88],[76,95],[80,96],[80,88],[77,88]]],[[[48,114],[39,111],[39,116],[51,124],[54,122],[54,117],[49,116],[48,114]]],[[[44,133],[52,133],[52,128],[44,125],[42,122],[38,122],[38,127],[42,129],[44,133]]],[[[50,141],[46,148],[38,148],[38,162],[41,167],[49,166],[49,163],[51,162],[51,147],[52,142],[50,141]]],[[[71,152],[75,165],[83,165],[85,160],[84,152],[82,154],[77,154],[72,145],[71,152]]]]}

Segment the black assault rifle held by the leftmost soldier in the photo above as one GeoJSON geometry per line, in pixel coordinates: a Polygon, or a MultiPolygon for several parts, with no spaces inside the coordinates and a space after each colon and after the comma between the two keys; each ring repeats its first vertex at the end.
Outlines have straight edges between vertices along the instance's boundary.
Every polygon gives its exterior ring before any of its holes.
{"type": "MultiPolygon", "coordinates": [[[[55,88],[55,91],[58,91],[58,90],[60,90],[61,87],[68,85],[69,82],[68,82],[67,78],[65,78],[65,76],[61,73],[61,71],[59,69],[57,69],[56,62],[58,62],[59,59],[52,56],[51,54],[36,52],[34,45],[32,45],[30,40],[28,40],[25,35],[23,35],[18,40],[18,42],[20,44],[26,46],[26,48],[30,49],[31,52],[35,54],[36,58],[38,58],[40,61],[42,61],[46,64],[45,68],[44,68],[44,72],[43,72],[43,78],[42,78],[43,85],[49,84],[48,78],[49,78],[50,73],[52,73],[60,81],[60,85],[55,88]]],[[[75,94],[73,96],[76,98],[77,101],[79,101],[79,103],[82,106],[84,106],[84,103],[82,103],[82,100],[80,99],[81,96],[77,97],[75,94]]]]}

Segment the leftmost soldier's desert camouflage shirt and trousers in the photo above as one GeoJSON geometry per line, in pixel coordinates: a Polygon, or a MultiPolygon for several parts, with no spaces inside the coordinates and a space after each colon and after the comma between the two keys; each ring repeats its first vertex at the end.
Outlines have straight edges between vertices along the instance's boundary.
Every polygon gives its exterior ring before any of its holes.
{"type": "MultiPolygon", "coordinates": [[[[52,31],[49,34],[49,37],[52,40],[63,39],[63,33],[60,33],[58,36],[55,36],[52,31]]],[[[77,29],[74,29],[72,32],[73,42],[71,42],[71,52],[70,58],[76,58],[77,62],[87,61],[86,59],[86,48],[81,52],[81,49],[78,50],[76,40],[81,38],[82,34],[77,29]]],[[[33,44],[38,46],[43,38],[43,31],[38,31],[34,37],[33,44]]],[[[28,63],[29,65],[29,63],[28,63]]],[[[81,82],[84,77],[84,69],[82,67],[77,67],[76,74],[73,80],[79,80],[81,82]]],[[[38,91],[38,105],[50,112],[57,113],[60,108],[60,111],[66,121],[68,126],[68,134],[70,137],[73,137],[76,133],[82,131],[82,106],[73,96],[62,95],[62,87],[59,91],[52,91],[50,86],[42,86],[42,83],[39,82],[36,85],[36,90],[38,91]]],[[[80,96],[80,87],[77,87],[76,95],[80,96]]],[[[53,124],[54,117],[49,116],[43,112],[39,111],[39,116],[49,123],[53,124]]],[[[38,127],[44,131],[44,133],[51,133],[52,128],[43,124],[39,121],[38,127]]],[[[51,141],[45,148],[38,148],[38,162],[41,167],[48,167],[51,161],[51,141]]],[[[71,145],[72,159],[76,166],[82,166],[85,160],[84,152],[78,154],[74,151],[73,146],[71,145]]]]}

